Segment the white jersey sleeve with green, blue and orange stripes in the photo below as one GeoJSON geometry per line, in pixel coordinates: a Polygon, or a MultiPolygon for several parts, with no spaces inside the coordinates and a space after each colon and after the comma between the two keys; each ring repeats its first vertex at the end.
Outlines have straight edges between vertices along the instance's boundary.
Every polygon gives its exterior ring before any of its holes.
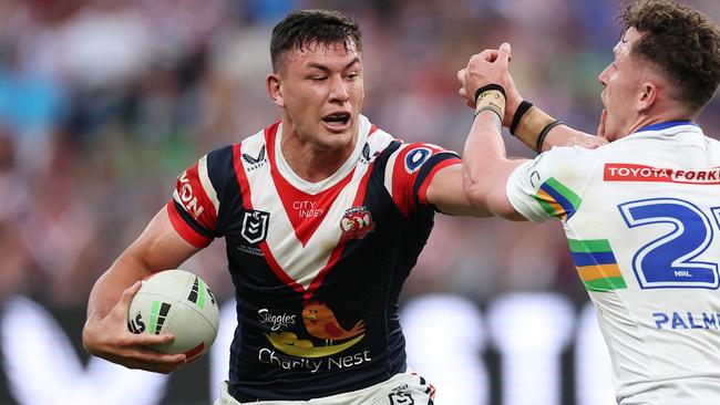
{"type": "Polygon", "coordinates": [[[515,210],[533,222],[548,218],[567,221],[582,204],[592,166],[577,147],[556,147],[517,167],[505,191],[515,210]]]}

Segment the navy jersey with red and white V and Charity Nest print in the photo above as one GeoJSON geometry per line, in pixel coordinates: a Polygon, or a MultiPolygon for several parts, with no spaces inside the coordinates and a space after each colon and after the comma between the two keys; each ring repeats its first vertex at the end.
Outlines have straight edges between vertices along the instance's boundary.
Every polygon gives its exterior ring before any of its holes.
{"type": "Polygon", "coordinates": [[[228,392],[309,399],[405,370],[398,298],[433,226],[425,199],[456,154],[361,117],[357,146],[320,183],[298,177],[277,123],[183,172],[168,202],[196,247],[225,237],[238,326],[228,392]]]}

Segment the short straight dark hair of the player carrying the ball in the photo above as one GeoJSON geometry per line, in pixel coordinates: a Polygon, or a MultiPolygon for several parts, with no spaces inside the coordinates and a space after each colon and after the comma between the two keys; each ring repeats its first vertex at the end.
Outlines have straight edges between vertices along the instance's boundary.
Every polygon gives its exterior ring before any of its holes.
{"type": "Polygon", "coordinates": [[[362,51],[360,28],[354,20],[333,10],[295,11],[272,29],[272,70],[278,71],[284,52],[302,50],[312,44],[329,45],[337,42],[342,42],[346,50],[354,45],[358,52],[362,51]]]}

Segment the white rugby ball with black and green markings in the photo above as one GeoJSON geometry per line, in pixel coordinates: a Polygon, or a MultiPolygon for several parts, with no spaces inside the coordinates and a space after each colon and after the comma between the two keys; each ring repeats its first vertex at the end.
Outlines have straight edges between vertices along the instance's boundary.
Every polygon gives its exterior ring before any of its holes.
{"type": "Polygon", "coordinates": [[[219,311],[209,287],[184,270],[165,270],[143,280],[130,303],[127,329],[133,333],[172,333],[175,340],[156,345],[163,353],[185,353],[195,360],[210,349],[219,311]]]}

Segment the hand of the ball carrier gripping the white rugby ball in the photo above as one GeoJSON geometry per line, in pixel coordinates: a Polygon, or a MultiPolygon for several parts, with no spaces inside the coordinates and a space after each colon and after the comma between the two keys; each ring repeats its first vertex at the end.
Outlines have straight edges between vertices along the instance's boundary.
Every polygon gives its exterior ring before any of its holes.
{"type": "Polygon", "coordinates": [[[120,301],[103,319],[89,316],[83,329],[83,344],[93,355],[128,368],[141,368],[168,374],[184,365],[185,354],[165,354],[153,351],[155,344],[172,342],[172,334],[134,334],[127,330],[127,310],[140,290],[136,282],[125,291],[120,301]]]}

